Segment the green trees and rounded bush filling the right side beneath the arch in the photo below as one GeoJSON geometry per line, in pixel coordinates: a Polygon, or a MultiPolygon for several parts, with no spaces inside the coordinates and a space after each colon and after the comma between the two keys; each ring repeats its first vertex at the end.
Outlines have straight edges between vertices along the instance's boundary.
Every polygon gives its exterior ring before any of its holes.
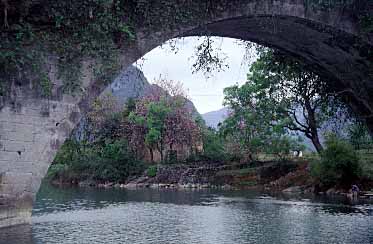
{"type": "Polygon", "coordinates": [[[361,151],[373,146],[368,129],[328,84],[298,60],[261,49],[247,82],[224,91],[231,114],[220,133],[233,138],[251,159],[260,154],[281,158],[304,150],[299,136],[309,140],[316,150],[311,175],[321,188],[348,189],[372,181],[363,168],[373,165],[373,155],[361,151]]]}

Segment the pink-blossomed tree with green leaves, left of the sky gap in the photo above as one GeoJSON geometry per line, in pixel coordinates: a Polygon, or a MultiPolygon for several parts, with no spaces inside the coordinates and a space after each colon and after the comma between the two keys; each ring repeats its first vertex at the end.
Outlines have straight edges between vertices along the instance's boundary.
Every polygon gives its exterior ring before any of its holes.
{"type": "Polygon", "coordinates": [[[136,109],[129,114],[132,131],[143,134],[139,138],[143,138],[152,161],[154,150],[164,161],[165,152],[173,151],[175,144],[192,148],[200,135],[199,127],[186,106],[187,99],[180,88],[181,83],[163,79],[158,84],[136,103],[136,109]]]}

